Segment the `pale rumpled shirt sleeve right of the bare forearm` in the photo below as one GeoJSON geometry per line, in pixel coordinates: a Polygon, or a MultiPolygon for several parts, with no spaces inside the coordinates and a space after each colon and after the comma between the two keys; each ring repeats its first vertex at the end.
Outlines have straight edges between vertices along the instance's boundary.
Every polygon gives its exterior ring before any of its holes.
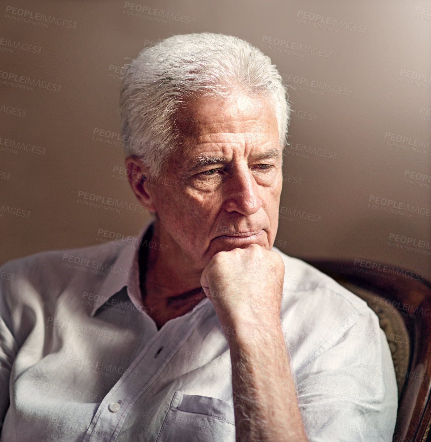
{"type": "Polygon", "coordinates": [[[392,441],[397,381],[371,310],[340,326],[296,374],[296,387],[310,442],[392,441]]]}

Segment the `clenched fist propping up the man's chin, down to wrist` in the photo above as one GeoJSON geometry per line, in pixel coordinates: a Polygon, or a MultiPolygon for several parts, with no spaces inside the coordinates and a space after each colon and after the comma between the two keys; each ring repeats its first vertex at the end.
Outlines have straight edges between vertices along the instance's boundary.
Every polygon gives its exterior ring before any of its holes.
{"type": "Polygon", "coordinates": [[[200,276],[222,325],[280,323],[283,281],[281,256],[258,244],[216,253],[200,276]]]}

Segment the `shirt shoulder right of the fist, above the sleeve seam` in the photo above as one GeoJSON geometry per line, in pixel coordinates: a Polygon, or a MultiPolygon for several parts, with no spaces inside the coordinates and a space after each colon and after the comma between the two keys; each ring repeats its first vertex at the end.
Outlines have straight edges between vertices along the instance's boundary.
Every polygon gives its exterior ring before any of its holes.
{"type": "Polygon", "coordinates": [[[365,301],[301,259],[273,250],[284,261],[281,318],[286,342],[298,356],[297,369],[340,341],[352,339],[353,332],[360,334],[356,345],[369,345],[371,338],[380,344],[378,317],[365,301]]]}

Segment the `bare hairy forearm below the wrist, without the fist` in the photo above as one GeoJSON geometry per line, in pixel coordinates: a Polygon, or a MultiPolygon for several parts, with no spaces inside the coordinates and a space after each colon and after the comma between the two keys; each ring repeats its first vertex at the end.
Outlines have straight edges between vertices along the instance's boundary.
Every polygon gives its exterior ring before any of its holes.
{"type": "Polygon", "coordinates": [[[280,323],[233,321],[225,332],[237,441],[307,441],[280,323]]]}

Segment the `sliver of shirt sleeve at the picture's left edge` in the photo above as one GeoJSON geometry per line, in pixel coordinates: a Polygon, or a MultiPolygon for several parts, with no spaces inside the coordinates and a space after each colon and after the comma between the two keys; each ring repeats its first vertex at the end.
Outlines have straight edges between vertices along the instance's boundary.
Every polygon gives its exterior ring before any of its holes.
{"type": "Polygon", "coordinates": [[[4,416],[9,408],[9,384],[12,364],[18,351],[11,331],[11,315],[6,302],[8,283],[13,282],[15,274],[0,267],[0,433],[4,416]]]}

